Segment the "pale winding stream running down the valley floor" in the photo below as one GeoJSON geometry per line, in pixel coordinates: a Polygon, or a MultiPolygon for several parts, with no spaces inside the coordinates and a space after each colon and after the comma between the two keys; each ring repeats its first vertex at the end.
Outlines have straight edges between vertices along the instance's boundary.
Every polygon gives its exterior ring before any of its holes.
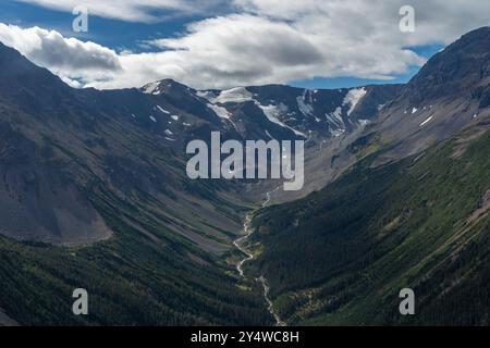
{"type": "MultiPolygon", "coordinates": [[[[266,207],[269,203],[269,201],[271,199],[270,195],[273,191],[275,191],[279,187],[277,187],[275,189],[273,189],[271,191],[268,191],[266,194],[266,200],[262,202],[262,208],[266,207]]],[[[245,262],[254,259],[254,254],[250,251],[248,251],[245,247],[243,247],[244,243],[254,233],[254,229],[250,227],[250,225],[252,225],[252,215],[253,215],[253,212],[248,213],[245,216],[245,221],[244,221],[244,224],[243,224],[243,231],[245,232],[245,235],[243,237],[240,237],[238,239],[235,239],[233,241],[233,245],[246,256],[244,259],[242,259],[236,264],[236,270],[238,271],[240,275],[243,276],[243,277],[246,277],[245,274],[244,274],[244,271],[243,271],[243,264],[245,262]]],[[[270,296],[269,296],[270,288],[269,288],[269,285],[267,284],[267,278],[264,275],[261,275],[260,277],[256,278],[256,281],[259,282],[262,285],[264,298],[266,299],[266,302],[267,302],[267,306],[268,306],[267,309],[272,314],[272,316],[274,318],[275,325],[277,326],[285,326],[286,323],[281,320],[281,318],[279,316],[278,312],[274,309],[274,304],[272,303],[272,300],[270,299],[270,296]]]]}

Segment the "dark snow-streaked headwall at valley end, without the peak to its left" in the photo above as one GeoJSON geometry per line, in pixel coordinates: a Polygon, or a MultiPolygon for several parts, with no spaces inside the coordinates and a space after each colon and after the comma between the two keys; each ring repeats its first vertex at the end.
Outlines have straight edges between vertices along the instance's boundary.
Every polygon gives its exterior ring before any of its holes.
{"type": "Polygon", "coordinates": [[[260,122],[258,128],[269,133],[262,132],[262,138],[330,139],[370,122],[378,108],[392,100],[400,89],[400,85],[334,90],[270,85],[198,95],[208,99],[212,108],[228,111],[235,125],[244,122],[243,119],[260,122]]]}

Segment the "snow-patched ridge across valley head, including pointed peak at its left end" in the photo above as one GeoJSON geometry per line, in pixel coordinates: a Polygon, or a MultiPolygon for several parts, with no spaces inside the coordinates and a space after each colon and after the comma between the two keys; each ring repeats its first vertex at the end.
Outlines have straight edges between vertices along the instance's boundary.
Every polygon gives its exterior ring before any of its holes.
{"type": "Polygon", "coordinates": [[[181,102],[194,104],[194,113],[212,112],[224,127],[236,130],[243,138],[330,139],[370,123],[400,89],[400,85],[332,90],[268,85],[194,90],[166,79],[140,90],[166,100],[174,98],[177,91],[181,102]]]}

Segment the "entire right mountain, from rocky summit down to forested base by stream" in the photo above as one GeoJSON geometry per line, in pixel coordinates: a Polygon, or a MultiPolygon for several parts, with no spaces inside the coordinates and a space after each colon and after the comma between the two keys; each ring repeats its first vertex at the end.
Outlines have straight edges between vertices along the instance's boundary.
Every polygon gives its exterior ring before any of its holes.
{"type": "Polygon", "coordinates": [[[290,324],[488,325],[490,28],[436,54],[330,185],[256,213],[247,272],[290,324]],[[409,287],[416,315],[399,313],[409,287]]]}

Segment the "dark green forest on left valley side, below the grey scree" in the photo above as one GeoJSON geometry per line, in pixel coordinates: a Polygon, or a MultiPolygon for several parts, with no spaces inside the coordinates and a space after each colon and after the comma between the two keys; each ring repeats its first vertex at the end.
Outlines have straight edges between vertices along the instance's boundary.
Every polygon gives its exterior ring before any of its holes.
{"type": "Polygon", "coordinates": [[[24,325],[265,325],[261,288],[242,284],[234,265],[204,252],[91,187],[114,236],[89,246],[52,247],[0,237],[0,307],[24,325]],[[131,211],[131,215],[121,215],[131,211]],[[124,219],[138,221],[158,238],[124,219]],[[86,288],[89,315],[72,313],[72,291],[86,288]]]}

